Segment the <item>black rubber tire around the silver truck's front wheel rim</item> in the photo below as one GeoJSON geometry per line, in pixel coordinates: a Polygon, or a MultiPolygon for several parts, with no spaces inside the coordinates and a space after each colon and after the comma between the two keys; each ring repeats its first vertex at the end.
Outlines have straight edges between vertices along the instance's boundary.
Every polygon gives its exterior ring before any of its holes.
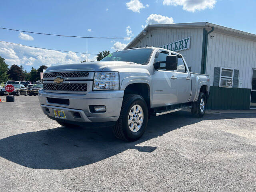
{"type": "Polygon", "coordinates": [[[116,138],[125,140],[125,141],[136,141],[144,134],[147,124],[148,124],[148,106],[144,98],[136,94],[125,95],[122,103],[120,116],[116,124],[113,126],[113,133],[116,136],[116,138]],[[128,116],[129,116],[130,110],[136,104],[141,106],[144,117],[143,117],[143,122],[140,129],[137,132],[132,132],[132,130],[130,130],[130,127],[128,126],[128,116]]]}

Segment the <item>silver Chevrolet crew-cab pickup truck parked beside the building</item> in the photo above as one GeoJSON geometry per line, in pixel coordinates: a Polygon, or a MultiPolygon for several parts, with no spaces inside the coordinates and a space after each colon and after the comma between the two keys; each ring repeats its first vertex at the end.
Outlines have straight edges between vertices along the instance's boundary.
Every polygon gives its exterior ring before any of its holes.
{"type": "Polygon", "coordinates": [[[207,75],[190,73],[181,54],[131,48],[99,62],[51,66],[38,91],[44,114],[66,127],[113,126],[134,141],[150,116],[191,108],[202,117],[210,90],[207,75]]]}

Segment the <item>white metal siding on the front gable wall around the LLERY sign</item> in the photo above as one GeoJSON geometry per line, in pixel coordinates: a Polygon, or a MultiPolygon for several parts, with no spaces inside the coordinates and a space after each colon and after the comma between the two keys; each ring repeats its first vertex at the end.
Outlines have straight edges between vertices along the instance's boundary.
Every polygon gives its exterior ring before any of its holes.
{"type": "MultiPolygon", "coordinates": [[[[173,29],[154,29],[141,42],[142,47],[154,46],[160,47],[161,45],[168,44],[186,37],[191,37],[190,48],[187,50],[179,51],[188,64],[192,67],[192,72],[201,72],[201,59],[202,59],[202,42],[203,42],[203,29],[202,28],[173,28],[173,29]],[[152,35],[152,37],[150,36],[152,35]]],[[[136,44],[140,47],[140,43],[136,44]]]]}

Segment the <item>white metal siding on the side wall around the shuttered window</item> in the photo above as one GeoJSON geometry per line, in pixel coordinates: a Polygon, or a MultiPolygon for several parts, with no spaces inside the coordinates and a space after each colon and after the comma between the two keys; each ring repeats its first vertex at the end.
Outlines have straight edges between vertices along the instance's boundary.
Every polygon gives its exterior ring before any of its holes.
{"type": "Polygon", "coordinates": [[[206,74],[211,77],[211,86],[214,67],[228,67],[239,70],[242,88],[251,88],[252,68],[256,68],[255,41],[212,32],[208,36],[207,49],[206,74]]]}

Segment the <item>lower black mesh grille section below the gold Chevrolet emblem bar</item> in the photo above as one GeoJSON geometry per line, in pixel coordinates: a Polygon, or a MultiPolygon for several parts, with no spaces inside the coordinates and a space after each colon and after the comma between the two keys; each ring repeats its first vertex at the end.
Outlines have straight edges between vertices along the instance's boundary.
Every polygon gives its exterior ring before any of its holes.
{"type": "Polygon", "coordinates": [[[86,92],[87,83],[43,83],[44,90],[86,92]]]}

